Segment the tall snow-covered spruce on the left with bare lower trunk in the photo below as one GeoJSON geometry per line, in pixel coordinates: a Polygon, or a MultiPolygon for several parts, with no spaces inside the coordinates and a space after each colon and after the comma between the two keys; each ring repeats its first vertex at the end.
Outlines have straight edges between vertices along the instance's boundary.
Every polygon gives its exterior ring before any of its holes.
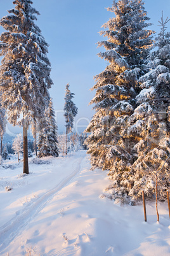
{"type": "Polygon", "coordinates": [[[0,84],[8,120],[23,127],[23,173],[29,173],[27,129],[32,118],[42,118],[52,85],[48,44],[34,23],[39,12],[31,0],[13,1],[15,8],[1,18],[0,84]],[[18,118],[19,121],[18,121],[18,118]]]}

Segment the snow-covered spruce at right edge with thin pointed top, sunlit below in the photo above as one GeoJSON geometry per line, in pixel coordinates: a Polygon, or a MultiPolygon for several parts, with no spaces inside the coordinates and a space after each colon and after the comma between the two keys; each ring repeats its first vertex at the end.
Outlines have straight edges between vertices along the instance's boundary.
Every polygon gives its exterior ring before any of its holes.
{"type": "Polygon", "coordinates": [[[170,33],[166,33],[163,15],[161,30],[156,38],[157,50],[148,57],[147,74],[140,78],[138,104],[129,118],[129,136],[136,137],[134,150],[138,159],[133,164],[134,185],[129,195],[141,197],[141,191],[151,198],[155,193],[155,174],[159,178],[159,199],[166,198],[170,186],[170,33]],[[167,161],[166,161],[167,159],[167,161]],[[166,164],[164,162],[166,161],[166,164]]]}

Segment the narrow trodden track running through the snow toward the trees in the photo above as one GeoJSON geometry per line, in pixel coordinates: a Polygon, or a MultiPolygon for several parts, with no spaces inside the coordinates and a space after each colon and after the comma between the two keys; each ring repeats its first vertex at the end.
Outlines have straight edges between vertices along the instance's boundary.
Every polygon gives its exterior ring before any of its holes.
{"type": "Polygon", "coordinates": [[[48,190],[44,195],[39,197],[36,201],[34,201],[30,206],[25,206],[23,210],[20,211],[16,217],[12,218],[9,222],[4,224],[0,230],[0,253],[10,245],[11,241],[15,239],[15,237],[20,234],[20,232],[24,229],[29,222],[36,217],[36,215],[41,211],[53,196],[57,194],[63,187],[67,186],[70,181],[81,171],[82,160],[84,157],[80,157],[79,159],[74,159],[72,164],[72,169],[74,171],[67,177],[63,178],[55,188],[48,190]],[[78,161],[77,161],[78,160],[78,161]]]}

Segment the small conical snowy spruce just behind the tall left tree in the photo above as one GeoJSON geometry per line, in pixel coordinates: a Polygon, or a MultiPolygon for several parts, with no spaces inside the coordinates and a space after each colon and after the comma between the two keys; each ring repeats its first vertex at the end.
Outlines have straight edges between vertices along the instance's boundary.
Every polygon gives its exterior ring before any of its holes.
{"type": "Polygon", "coordinates": [[[40,122],[38,150],[37,157],[58,157],[57,126],[51,98],[40,122]]]}

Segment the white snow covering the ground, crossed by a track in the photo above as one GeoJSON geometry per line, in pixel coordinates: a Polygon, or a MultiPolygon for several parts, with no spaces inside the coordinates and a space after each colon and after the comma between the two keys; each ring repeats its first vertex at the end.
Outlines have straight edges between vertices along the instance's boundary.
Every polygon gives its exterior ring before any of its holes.
{"type": "Polygon", "coordinates": [[[67,157],[6,160],[0,166],[0,255],[170,255],[167,202],[120,206],[101,198],[106,171],[89,171],[86,151],[67,157]],[[4,168],[4,167],[9,168],[4,168]],[[7,191],[12,188],[10,191],[7,191]]]}

